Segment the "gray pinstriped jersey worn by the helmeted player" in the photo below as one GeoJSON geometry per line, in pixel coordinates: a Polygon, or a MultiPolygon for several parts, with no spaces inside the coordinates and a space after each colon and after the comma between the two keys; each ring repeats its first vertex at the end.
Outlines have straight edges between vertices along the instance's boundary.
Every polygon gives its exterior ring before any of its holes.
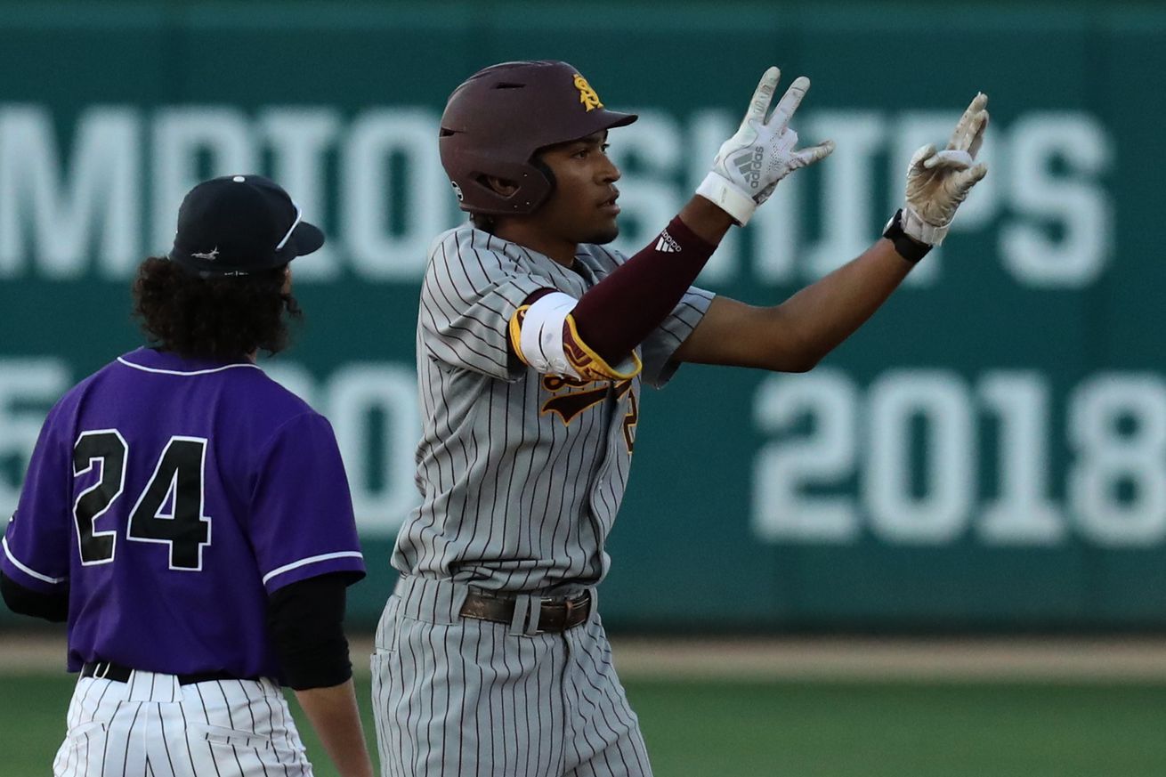
{"type": "Polygon", "coordinates": [[[553,288],[578,299],[624,261],[619,252],[581,245],[568,268],[471,225],[434,242],[416,343],[422,504],[398,537],[398,570],[511,592],[603,579],[641,382],[668,382],[673,352],[712,294],[686,293],[637,349],[642,371],[628,379],[540,374],[513,357],[507,338],[532,293],[553,288]]]}

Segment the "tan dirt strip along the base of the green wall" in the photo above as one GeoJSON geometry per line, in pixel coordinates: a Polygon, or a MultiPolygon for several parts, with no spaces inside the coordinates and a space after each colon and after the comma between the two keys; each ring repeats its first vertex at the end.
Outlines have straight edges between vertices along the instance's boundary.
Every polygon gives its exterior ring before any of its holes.
{"type": "MultiPolygon", "coordinates": [[[[627,679],[1097,680],[1166,682],[1166,637],[766,638],[613,637],[627,679]]],[[[370,636],[352,640],[353,665],[370,636]]],[[[64,639],[0,632],[0,672],[64,668],[64,639]]]]}

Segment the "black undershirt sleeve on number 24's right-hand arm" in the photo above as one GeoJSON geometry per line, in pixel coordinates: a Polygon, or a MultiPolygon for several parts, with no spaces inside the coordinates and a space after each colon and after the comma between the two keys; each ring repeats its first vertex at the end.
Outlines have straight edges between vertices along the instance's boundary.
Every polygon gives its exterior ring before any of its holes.
{"type": "Polygon", "coordinates": [[[308,578],[267,597],[267,628],[282,679],[296,691],[331,687],[352,677],[344,637],[345,590],[359,578],[346,572],[308,578]]]}

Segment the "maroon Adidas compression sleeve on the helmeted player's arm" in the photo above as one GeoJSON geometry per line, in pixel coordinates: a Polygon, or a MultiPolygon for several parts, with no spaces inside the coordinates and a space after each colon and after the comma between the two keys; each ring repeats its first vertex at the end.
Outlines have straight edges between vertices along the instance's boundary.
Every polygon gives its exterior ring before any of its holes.
{"type": "Polygon", "coordinates": [[[621,360],[668,317],[715,250],[679,216],[672,219],[580,299],[571,312],[580,337],[607,364],[621,360]]]}

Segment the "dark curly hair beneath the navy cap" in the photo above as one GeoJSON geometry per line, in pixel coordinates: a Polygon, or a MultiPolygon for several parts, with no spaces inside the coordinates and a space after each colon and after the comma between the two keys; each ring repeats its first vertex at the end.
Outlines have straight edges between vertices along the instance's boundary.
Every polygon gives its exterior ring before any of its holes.
{"type": "Polygon", "coordinates": [[[169,259],[150,257],[133,282],[134,315],[152,345],[181,356],[237,359],[260,349],[276,354],[287,348],[288,317],[303,317],[295,298],[283,293],[283,267],[204,279],[169,259]]]}

